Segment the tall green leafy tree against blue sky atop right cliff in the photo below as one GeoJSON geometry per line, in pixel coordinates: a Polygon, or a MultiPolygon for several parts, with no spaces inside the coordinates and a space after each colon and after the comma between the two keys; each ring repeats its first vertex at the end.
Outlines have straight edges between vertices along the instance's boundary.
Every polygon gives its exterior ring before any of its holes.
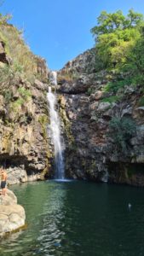
{"type": "MultiPolygon", "coordinates": [[[[118,10],[114,14],[101,12],[98,25],[91,32],[95,36],[96,68],[122,68],[130,60],[131,49],[141,38],[144,27],[143,15],[130,9],[124,16],[118,10]]],[[[139,47],[140,48],[140,47],[139,47]]]]}

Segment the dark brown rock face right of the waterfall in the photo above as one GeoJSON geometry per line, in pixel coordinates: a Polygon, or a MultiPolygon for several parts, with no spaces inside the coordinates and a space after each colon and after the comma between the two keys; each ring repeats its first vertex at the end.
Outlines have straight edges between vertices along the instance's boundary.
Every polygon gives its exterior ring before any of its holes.
{"type": "MultiPolygon", "coordinates": [[[[144,186],[144,111],[139,106],[143,96],[141,87],[125,84],[116,96],[106,92],[107,83],[117,74],[96,73],[95,56],[89,62],[89,53],[68,62],[58,74],[60,116],[66,138],[66,175],[144,186]],[[116,149],[108,136],[109,122],[113,117],[135,122],[136,132],[127,144],[126,152],[116,149]]],[[[118,76],[118,79],[124,79],[123,73],[118,76]]]]}

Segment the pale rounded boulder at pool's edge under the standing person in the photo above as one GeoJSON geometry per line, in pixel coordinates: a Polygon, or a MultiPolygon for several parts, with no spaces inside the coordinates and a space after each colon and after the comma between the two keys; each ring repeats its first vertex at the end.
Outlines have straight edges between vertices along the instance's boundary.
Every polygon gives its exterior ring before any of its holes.
{"type": "Polygon", "coordinates": [[[24,208],[17,204],[16,196],[8,189],[5,196],[0,195],[0,236],[20,229],[25,220],[24,208]]]}

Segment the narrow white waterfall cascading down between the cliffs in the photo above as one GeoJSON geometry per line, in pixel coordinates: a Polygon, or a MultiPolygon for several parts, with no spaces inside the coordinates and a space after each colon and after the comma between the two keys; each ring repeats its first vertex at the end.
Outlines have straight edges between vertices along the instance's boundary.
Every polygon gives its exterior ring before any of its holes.
{"type": "Polygon", "coordinates": [[[49,102],[50,131],[55,148],[55,178],[64,179],[65,173],[63,147],[60,137],[60,119],[58,113],[55,110],[56,96],[54,93],[51,92],[51,87],[49,87],[47,99],[49,102]]]}

